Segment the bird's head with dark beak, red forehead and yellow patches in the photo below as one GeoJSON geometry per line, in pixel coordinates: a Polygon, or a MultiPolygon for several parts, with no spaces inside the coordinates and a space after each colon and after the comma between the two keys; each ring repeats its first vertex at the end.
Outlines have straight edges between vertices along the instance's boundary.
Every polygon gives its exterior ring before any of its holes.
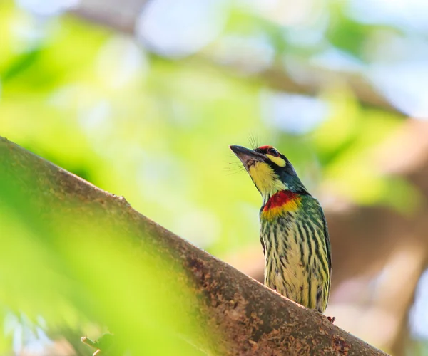
{"type": "Polygon", "coordinates": [[[282,190],[308,194],[290,161],[274,147],[260,146],[250,150],[232,145],[230,150],[243,162],[263,200],[282,190]]]}

